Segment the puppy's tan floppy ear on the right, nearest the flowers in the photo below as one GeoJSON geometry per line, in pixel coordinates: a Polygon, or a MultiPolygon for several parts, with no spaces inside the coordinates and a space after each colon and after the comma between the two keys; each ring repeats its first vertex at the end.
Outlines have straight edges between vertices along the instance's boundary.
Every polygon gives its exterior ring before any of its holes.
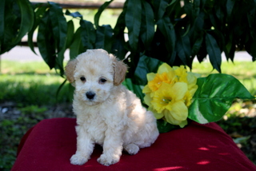
{"type": "Polygon", "coordinates": [[[120,85],[126,78],[127,66],[124,62],[114,58],[114,85],[120,85]]]}

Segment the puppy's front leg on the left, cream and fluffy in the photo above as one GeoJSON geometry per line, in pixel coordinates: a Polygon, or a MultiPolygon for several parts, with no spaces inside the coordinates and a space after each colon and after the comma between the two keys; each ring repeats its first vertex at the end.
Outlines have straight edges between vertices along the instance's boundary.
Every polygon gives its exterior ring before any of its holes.
{"type": "Polygon", "coordinates": [[[94,143],[90,140],[82,130],[79,125],[75,127],[78,137],[77,137],[77,151],[70,158],[70,163],[73,165],[83,165],[90,159],[90,154],[94,150],[94,143]]]}

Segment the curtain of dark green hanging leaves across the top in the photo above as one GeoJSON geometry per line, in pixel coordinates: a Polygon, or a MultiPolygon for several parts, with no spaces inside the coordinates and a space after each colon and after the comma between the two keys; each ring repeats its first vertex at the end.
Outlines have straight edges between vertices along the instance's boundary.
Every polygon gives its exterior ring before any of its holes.
{"type": "MultiPolygon", "coordinates": [[[[78,12],[64,14],[54,2],[31,5],[28,0],[2,0],[0,54],[16,46],[26,33],[34,51],[32,38],[38,28],[38,48],[50,69],[64,74],[66,49],[75,58],[87,49],[101,48],[126,59],[127,77],[137,84],[145,83],[134,77],[142,58],[191,68],[194,58],[202,62],[209,54],[218,72],[222,52],[231,61],[238,49],[256,59],[256,0],[126,0],[114,28],[100,26],[102,11],[111,2],[102,4],[92,23],[78,12]],[[73,19],[66,21],[66,15],[73,19]],[[74,30],[74,19],[80,21],[78,30],[74,30]]],[[[154,70],[154,63],[149,65],[154,70]]]]}

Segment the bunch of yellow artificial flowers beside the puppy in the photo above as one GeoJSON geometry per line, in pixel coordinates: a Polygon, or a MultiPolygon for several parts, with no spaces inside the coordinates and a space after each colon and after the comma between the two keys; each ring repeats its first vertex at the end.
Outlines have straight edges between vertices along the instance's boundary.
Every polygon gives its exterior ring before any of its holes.
{"type": "Polygon", "coordinates": [[[144,101],[157,119],[184,127],[188,106],[198,89],[197,74],[188,73],[185,66],[173,68],[163,63],[158,73],[146,75],[148,84],[142,90],[144,101]]]}

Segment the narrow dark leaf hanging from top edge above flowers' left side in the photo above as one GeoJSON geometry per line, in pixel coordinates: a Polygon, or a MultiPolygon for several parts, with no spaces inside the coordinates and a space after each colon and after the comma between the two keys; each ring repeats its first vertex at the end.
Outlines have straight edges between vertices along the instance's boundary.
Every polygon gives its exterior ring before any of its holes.
{"type": "Polygon", "coordinates": [[[154,38],[154,11],[146,1],[142,1],[142,11],[141,38],[147,48],[154,38]]]}

